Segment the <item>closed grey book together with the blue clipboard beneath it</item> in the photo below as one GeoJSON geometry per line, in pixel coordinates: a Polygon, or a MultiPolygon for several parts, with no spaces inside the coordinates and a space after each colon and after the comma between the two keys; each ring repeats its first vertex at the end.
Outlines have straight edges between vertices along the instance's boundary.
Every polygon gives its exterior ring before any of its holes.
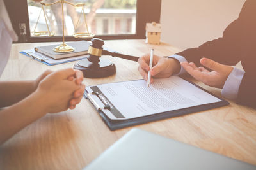
{"type": "Polygon", "coordinates": [[[32,57],[47,66],[62,64],[65,62],[72,62],[88,57],[88,48],[90,43],[88,41],[75,41],[67,43],[75,50],[73,52],[59,53],[54,52],[54,48],[58,45],[38,46],[29,50],[23,50],[22,54],[32,57]]]}

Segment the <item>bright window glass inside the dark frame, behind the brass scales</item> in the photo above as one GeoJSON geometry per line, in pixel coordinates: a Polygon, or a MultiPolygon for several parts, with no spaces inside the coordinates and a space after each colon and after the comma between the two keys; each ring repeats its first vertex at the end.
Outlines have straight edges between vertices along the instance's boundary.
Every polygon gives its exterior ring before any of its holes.
{"type": "MultiPolygon", "coordinates": [[[[33,0],[28,1],[30,31],[34,31],[41,5],[33,0]]],[[[43,0],[44,3],[54,3],[58,0],[43,0]]],[[[88,29],[93,34],[135,34],[136,33],[136,0],[67,0],[70,3],[85,3],[84,13],[88,29]]],[[[81,7],[75,8],[64,4],[65,35],[72,36],[81,14],[81,7]]],[[[61,4],[45,6],[45,17],[50,31],[55,36],[62,36],[61,4]]],[[[47,25],[42,12],[35,31],[47,31],[47,25]]],[[[80,18],[76,32],[86,32],[83,17],[80,18]]],[[[33,36],[33,34],[31,34],[33,36]]]]}

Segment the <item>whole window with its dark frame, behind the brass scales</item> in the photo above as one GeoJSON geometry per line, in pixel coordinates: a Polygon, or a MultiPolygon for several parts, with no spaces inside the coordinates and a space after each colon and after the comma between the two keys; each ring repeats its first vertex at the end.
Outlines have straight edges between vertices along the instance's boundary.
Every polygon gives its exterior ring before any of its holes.
{"type": "MultiPolygon", "coordinates": [[[[58,0],[43,0],[53,3],[58,0]]],[[[145,38],[145,23],[159,22],[161,0],[66,0],[70,3],[85,3],[84,13],[88,30],[102,39],[143,39],[145,38]],[[91,12],[92,11],[92,12],[91,12]]],[[[45,6],[41,12],[40,3],[33,0],[4,0],[13,27],[19,36],[19,42],[61,41],[62,9],[61,4],[45,6]],[[15,5],[13,5],[15,4],[15,5]],[[17,15],[17,13],[22,15],[17,15]],[[39,17],[39,19],[38,19],[39,17]],[[36,22],[38,20],[38,24],[36,22]],[[46,21],[45,21],[46,20],[46,21]],[[47,24],[46,24],[47,22],[47,24]],[[21,33],[20,25],[25,25],[26,34],[21,33]],[[31,34],[35,31],[55,32],[54,36],[38,37],[31,34]]],[[[72,36],[76,32],[85,32],[84,19],[80,18],[75,29],[81,8],[64,4],[65,41],[76,41],[72,36]]]]}

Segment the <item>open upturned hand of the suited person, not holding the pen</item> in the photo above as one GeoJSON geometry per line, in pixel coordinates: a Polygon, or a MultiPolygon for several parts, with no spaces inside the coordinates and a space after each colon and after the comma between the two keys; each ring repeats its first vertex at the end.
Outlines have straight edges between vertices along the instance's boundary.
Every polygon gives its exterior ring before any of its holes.
{"type": "Polygon", "coordinates": [[[193,62],[181,62],[180,64],[196,80],[202,81],[205,85],[222,89],[233,67],[207,58],[202,58],[200,63],[213,71],[209,71],[204,67],[197,67],[193,62]]]}

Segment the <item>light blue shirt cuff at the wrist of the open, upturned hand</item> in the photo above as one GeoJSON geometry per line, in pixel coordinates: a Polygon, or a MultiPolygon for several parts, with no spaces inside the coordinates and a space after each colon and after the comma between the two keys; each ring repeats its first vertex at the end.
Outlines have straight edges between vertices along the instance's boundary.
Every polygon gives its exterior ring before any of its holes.
{"type": "Polygon", "coordinates": [[[229,74],[223,89],[221,90],[221,95],[227,99],[236,99],[238,95],[239,86],[243,80],[244,71],[241,69],[234,68],[229,74]]]}

